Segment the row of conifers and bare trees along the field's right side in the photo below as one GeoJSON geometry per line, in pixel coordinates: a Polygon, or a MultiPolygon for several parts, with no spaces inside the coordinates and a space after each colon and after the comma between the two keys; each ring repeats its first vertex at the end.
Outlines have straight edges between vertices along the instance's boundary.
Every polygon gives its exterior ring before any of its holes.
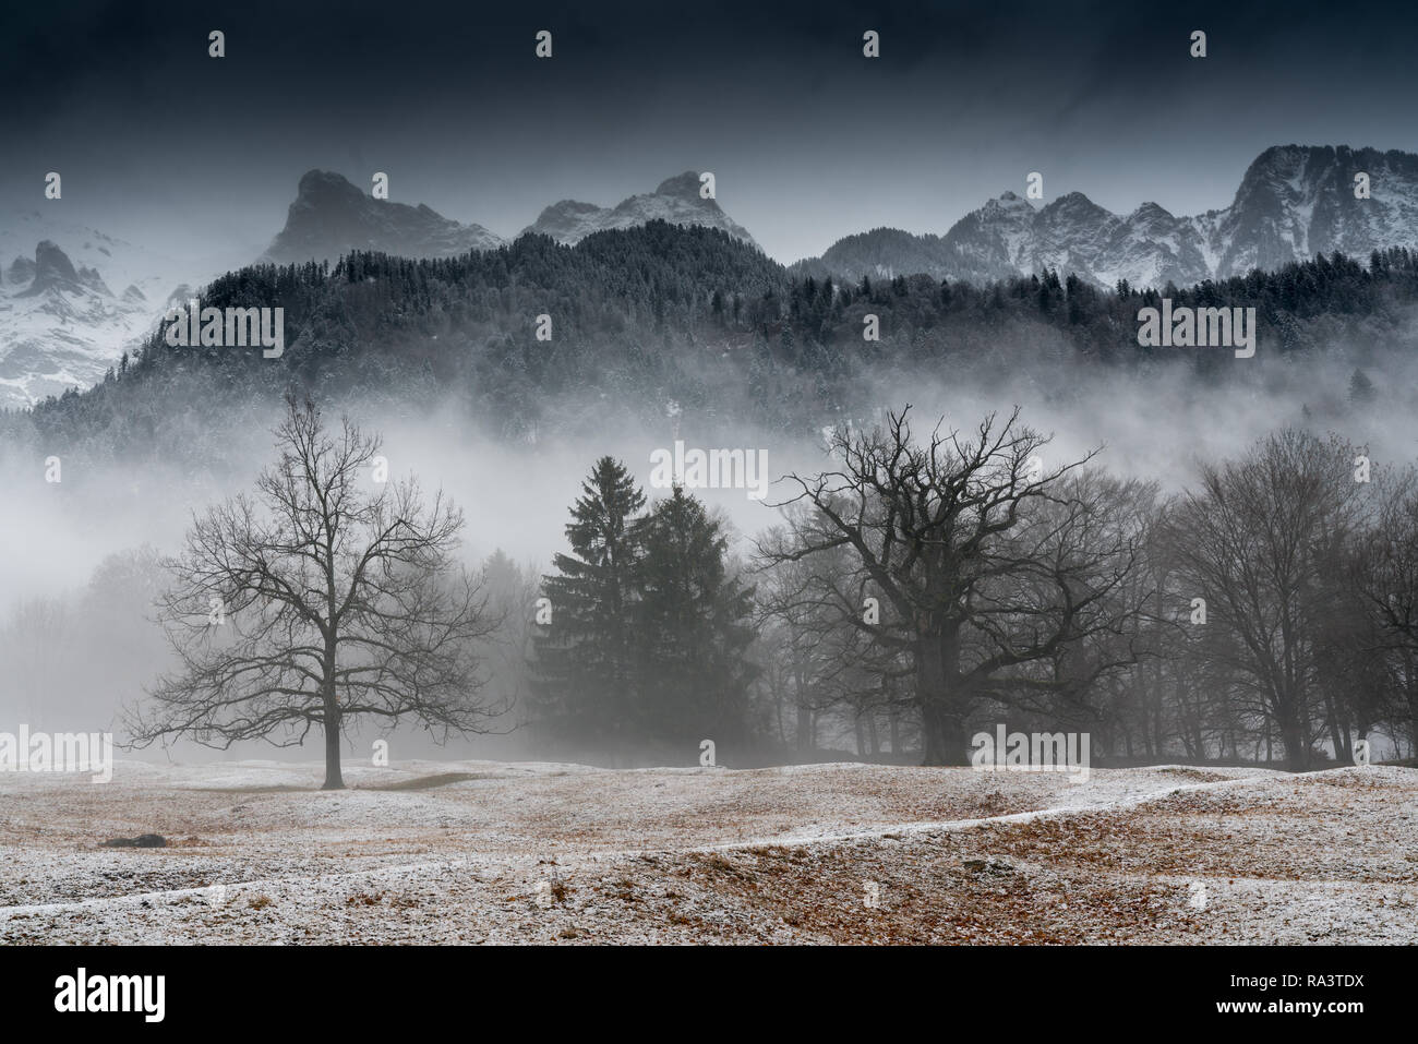
{"type": "Polygon", "coordinates": [[[1045,470],[1018,414],[912,420],[838,433],[743,560],[692,494],[644,512],[601,460],[570,553],[523,580],[547,611],[518,643],[525,721],[630,757],[710,738],[959,763],[997,723],[1149,762],[1415,749],[1412,468],[1283,430],[1164,496],[1092,457],[1045,470]]]}

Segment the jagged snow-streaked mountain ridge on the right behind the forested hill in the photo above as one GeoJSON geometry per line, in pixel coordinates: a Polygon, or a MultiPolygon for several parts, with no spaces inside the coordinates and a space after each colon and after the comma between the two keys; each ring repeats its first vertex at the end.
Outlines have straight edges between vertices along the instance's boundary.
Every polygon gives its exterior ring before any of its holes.
{"type": "Polygon", "coordinates": [[[1418,245],[1418,155],[1280,145],[1249,165],[1229,207],[1177,217],[1143,203],[1126,217],[1071,191],[1035,210],[1012,191],[960,218],[943,237],[871,244],[847,237],[822,254],[832,274],[881,271],[998,279],[1055,268],[1112,287],[1185,285],[1275,270],[1320,252],[1367,257],[1418,245]],[[1368,196],[1356,193],[1367,176],[1368,196]],[[1358,180],[1357,180],[1358,179],[1358,180]]]}

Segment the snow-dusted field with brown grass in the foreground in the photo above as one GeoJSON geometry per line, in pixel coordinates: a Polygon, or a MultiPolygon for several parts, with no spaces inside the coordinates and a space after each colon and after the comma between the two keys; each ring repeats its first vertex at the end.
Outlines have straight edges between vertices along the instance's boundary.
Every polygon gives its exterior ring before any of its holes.
{"type": "Polygon", "coordinates": [[[1418,770],[0,774],[0,943],[1415,943],[1418,770]],[[105,848],[162,834],[166,848],[105,848]]]}

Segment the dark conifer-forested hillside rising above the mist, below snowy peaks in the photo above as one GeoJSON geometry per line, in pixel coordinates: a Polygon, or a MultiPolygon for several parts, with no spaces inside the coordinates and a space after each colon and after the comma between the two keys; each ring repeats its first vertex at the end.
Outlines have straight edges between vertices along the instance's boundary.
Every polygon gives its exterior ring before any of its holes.
{"type": "MultiPolygon", "coordinates": [[[[235,348],[170,348],[157,329],[108,377],[0,414],[10,445],[105,454],[182,452],[193,414],[278,401],[292,384],[322,399],[454,400],[493,434],[594,434],[617,416],[662,423],[674,403],[702,426],[815,433],[875,410],[899,376],[997,372],[1046,360],[1185,369],[1224,380],[1225,352],[1137,345],[1137,311],[1254,306],[1261,350],[1387,345],[1418,302],[1418,254],[1340,254],[1275,272],[1139,291],[1046,271],[988,285],[925,275],[838,285],[794,278],[720,231],[666,226],[598,233],[576,247],[525,235],[450,260],[353,252],[333,267],[254,265],[201,292],[211,308],[285,309],[279,360],[235,348]],[[864,339],[878,316],[879,340],[864,339]],[[547,340],[537,339],[549,316],[547,340]],[[1061,352],[1065,353],[1061,356],[1061,352]]],[[[1086,380],[1086,377],[1083,377],[1086,380]]]]}

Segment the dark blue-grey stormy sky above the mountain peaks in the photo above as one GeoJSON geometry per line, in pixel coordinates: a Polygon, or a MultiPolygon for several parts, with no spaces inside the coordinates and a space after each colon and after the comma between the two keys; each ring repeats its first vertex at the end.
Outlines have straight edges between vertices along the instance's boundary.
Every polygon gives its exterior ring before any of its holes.
{"type": "Polygon", "coordinates": [[[559,199],[615,203],[696,169],[784,261],[879,224],[944,231],[1031,170],[1046,199],[1197,213],[1268,145],[1418,149],[1415,11],[26,4],[0,14],[0,213],[45,206],[58,170],[67,217],[177,254],[259,247],[318,166],[363,187],[386,170],[393,199],[510,235],[559,199]]]}

